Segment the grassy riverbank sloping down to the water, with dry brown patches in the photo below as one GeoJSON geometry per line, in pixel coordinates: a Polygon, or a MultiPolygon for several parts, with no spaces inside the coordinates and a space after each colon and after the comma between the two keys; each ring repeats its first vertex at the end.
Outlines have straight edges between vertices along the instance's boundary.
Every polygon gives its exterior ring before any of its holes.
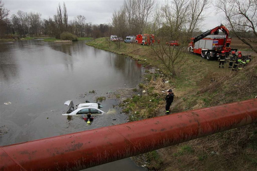
{"type": "MultiPolygon", "coordinates": [[[[109,45],[105,38],[87,44],[124,54],[143,66],[154,68],[146,69],[142,83],[120,104],[131,121],[164,115],[165,94],[161,91],[168,88],[172,88],[175,95],[172,113],[251,99],[257,95],[255,59],[240,72],[232,72],[228,63],[225,69],[219,69],[217,61],[203,59],[200,62],[198,55],[187,54],[188,60],[177,68],[177,76],[172,77],[149,46],[121,42],[117,48],[115,42],[109,45]]],[[[120,95],[116,97],[121,98],[120,95]]],[[[151,170],[256,170],[256,126],[251,124],[159,149],[136,156],[136,160],[151,170]]]]}

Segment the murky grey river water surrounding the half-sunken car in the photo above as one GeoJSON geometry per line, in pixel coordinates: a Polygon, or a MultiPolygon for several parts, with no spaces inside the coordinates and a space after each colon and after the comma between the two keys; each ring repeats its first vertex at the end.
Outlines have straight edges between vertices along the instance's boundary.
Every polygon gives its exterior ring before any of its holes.
{"type": "MultiPolygon", "coordinates": [[[[126,122],[127,116],[117,107],[114,112],[96,117],[92,125],[81,117],[68,120],[61,114],[67,111],[66,100],[73,100],[74,105],[85,100],[94,102],[97,96],[135,87],[143,72],[137,61],[87,46],[85,41],[1,43],[0,127],[7,133],[0,137],[0,145],[126,122]],[[92,90],[96,93],[88,93],[92,90]]],[[[102,110],[107,112],[117,104],[115,99],[106,99],[102,110]]],[[[121,169],[144,170],[130,158],[86,170],[121,169]]]]}

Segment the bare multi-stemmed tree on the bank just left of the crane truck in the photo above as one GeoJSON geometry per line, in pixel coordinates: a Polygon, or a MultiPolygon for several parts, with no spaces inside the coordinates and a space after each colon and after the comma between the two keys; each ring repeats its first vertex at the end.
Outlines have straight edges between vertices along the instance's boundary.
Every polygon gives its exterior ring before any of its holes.
{"type": "Polygon", "coordinates": [[[203,19],[202,12],[207,4],[205,0],[203,2],[172,0],[162,6],[161,10],[155,9],[153,32],[157,34],[155,38],[160,39],[160,42],[151,46],[151,49],[173,76],[177,75],[177,69],[188,60],[185,50],[188,39],[203,19]],[[170,41],[178,40],[180,46],[170,46],[170,41]]]}

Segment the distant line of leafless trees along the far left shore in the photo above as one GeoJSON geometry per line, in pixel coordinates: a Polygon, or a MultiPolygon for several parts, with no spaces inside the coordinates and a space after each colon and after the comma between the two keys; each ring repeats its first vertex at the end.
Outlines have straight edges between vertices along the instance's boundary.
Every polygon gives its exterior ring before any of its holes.
{"type": "Polygon", "coordinates": [[[107,24],[92,24],[86,22],[86,17],[77,15],[68,21],[68,13],[65,3],[57,7],[57,14],[48,19],[42,19],[41,13],[26,13],[18,10],[17,14],[8,16],[9,10],[4,8],[0,1],[0,36],[17,34],[42,36],[49,35],[57,39],[62,32],[70,32],[78,37],[103,37],[108,30],[107,24]]]}

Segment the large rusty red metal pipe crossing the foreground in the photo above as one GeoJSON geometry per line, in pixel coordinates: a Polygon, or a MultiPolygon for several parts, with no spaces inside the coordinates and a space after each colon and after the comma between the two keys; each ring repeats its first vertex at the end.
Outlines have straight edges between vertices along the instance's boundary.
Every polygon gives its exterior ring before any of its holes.
{"type": "Polygon", "coordinates": [[[0,148],[0,170],[80,170],[257,121],[257,99],[0,148]]]}

